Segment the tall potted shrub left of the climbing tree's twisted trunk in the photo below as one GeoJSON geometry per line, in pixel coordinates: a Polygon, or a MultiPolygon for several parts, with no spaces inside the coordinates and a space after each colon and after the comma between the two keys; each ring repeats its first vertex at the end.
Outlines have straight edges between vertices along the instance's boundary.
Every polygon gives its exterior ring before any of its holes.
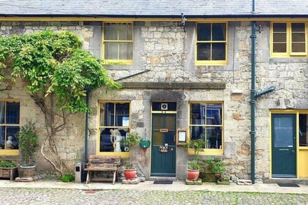
{"type": "Polygon", "coordinates": [[[26,125],[20,127],[16,137],[19,139],[22,155],[22,164],[18,167],[18,174],[21,178],[33,177],[36,169],[33,157],[35,148],[38,146],[38,136],[35,133],[34,123],[27,122],[26,125]]]}

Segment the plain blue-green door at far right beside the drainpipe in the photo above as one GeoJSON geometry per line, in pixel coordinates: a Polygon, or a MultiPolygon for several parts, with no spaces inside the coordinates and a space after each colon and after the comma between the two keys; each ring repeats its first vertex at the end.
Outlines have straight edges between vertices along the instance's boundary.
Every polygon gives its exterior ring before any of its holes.
{"type": "Polygon", "coordinates": [[[296,178],[296,115],[272,115],[272,177],[296,178]]]}

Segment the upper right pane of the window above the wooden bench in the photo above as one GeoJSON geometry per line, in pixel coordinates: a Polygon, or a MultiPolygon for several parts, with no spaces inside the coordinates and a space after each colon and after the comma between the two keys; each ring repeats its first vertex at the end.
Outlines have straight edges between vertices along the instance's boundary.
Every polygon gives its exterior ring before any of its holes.
{"type": "Polygon", "coordinates": [[[130,104],[116,104],[116,126],[130,126],[130,104]]]}

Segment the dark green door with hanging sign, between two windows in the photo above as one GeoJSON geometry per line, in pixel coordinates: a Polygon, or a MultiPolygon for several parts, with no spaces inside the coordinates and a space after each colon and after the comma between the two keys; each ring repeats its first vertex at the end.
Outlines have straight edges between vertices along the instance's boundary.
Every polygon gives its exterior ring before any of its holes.
{"type": "Polygon", "coordinates": [[[175,135],[176,114],[152,115],[151,176],[176,175],[175,135]]]}

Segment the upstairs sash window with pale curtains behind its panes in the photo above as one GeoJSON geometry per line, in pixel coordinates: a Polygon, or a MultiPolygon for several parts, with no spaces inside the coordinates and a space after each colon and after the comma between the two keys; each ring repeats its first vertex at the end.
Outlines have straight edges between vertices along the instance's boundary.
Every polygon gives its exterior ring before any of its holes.
{"type": "Polygon", "coordinates": [[[132,63],[133,24],[104,23],[103,57],[108,62],[132,63]]]}

